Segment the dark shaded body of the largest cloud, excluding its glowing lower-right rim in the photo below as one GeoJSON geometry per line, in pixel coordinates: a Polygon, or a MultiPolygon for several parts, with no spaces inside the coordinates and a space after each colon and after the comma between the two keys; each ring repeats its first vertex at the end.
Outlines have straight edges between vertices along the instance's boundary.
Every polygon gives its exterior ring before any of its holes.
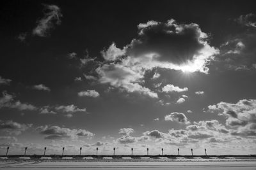
{"type": "Polygon", "coordinates": [[[129,46],[127,53],[141,56],[148,53],[160,55],[160,61],[183,64],[193,60],[204,48],[207,34],[197,24],[178,24],[175,20],[166,23],[149,21],[138,25],[140,34],[129,46]]]}

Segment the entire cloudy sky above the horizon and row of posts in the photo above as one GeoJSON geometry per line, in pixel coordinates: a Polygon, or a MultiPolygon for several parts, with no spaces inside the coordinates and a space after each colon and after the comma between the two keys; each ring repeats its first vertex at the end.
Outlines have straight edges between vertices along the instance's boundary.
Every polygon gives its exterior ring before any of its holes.
{"type": "Polygon", "coordinates": [[[253,1],[1,1],[0,154],[256,153],[253,1]]]}

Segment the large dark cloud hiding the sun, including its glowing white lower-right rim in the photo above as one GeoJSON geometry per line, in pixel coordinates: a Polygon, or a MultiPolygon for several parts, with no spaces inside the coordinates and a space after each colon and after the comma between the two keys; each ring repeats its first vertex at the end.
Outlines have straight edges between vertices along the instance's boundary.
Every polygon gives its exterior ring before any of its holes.
{"type": "Polygon", "coordinates": [[[139,36],[127,46],[127,55],[142,59],[154,54],[152,62],[159,67],[207,73],[207,62],[218,53],[209,45],[207,34],[198,24],[178,24],[173,19],[166,23],[151,20],[138,25],[138,29],[139,36]]]}

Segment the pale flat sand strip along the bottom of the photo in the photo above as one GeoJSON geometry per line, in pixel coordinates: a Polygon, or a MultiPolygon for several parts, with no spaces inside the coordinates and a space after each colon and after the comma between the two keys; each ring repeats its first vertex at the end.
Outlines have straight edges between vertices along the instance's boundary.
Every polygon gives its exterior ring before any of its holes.
{"type": "Polygon", "coordinates": [[[1,161],[0,169],[115,169],[115,170],[129,170],[129,169],[256,169],[256,161],[118,161],[118,162],[72,162],[72,161],[1,161]]]}

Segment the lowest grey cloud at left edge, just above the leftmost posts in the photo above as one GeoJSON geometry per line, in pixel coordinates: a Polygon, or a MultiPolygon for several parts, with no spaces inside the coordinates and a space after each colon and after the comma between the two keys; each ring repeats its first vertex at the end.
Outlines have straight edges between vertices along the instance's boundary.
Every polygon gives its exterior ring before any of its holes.
{"type": "Polygon", "coordinates": [[[8,134],[20,134],[26,131],[32,124],[20,124],[18,122],[13,122],[12,120],[0,120],[0,131],[6,132],[8,134]]]}

